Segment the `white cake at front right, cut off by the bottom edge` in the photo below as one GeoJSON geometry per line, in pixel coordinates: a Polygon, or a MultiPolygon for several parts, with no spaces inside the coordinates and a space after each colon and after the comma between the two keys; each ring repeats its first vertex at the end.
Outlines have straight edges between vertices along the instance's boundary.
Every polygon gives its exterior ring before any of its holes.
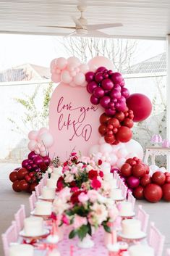
{"type": "Polygon", "coordinates": [[[136,244],[129,247],[129,256],[154,256],[154,249],[147,244],[136,244]]]}

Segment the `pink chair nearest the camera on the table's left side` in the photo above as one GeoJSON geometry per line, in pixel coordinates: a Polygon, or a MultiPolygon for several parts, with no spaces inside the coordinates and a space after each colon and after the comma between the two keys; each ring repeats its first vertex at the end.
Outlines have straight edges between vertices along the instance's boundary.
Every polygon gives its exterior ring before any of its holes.
{"type": "Polygon", "coordinates": [[[4,255],[9,256],[9,246],[12,243],[17,242],[18,232],[17,232],[17,223],[12,221],[12,226],[10,226],[7,231],[1,235],[4,255]]]}

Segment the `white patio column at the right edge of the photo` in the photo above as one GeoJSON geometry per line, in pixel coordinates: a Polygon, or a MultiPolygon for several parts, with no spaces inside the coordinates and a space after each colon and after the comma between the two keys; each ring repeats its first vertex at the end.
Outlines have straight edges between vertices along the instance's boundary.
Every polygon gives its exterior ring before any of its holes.
{"type": "MultiPolygon", "coordinates": [[[[166,138],[170,141],[170,35],[166,37],[166,138]]],[[[167,157],[167,170],[170,172],[170,156],[167,157]]]]}

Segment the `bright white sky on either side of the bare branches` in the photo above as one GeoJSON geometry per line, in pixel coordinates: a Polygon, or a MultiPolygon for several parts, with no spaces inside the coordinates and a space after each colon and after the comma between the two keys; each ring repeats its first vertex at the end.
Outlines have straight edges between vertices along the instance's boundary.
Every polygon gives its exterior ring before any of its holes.
{"type": "MultiPolygon", "coordinates": [[[[0,34],[0,70],[30,62],[48,67],[52,59],[67,57],[55,36],[0,34]]],[[[132,64],[166,51],[165,41],[140,40],[132,64]]]]}

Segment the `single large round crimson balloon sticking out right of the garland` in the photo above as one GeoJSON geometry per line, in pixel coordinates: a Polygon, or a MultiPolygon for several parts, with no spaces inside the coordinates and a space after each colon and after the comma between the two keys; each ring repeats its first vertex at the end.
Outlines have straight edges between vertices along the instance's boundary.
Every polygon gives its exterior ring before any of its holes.
{"type": "Polygon", "coordinates": [[[141,122],[149,117],[152,111],[152,103],[150,99],[143,94],[131,94],[127,98],[127,107],[133,111],[133,121],[141,122]]]}

